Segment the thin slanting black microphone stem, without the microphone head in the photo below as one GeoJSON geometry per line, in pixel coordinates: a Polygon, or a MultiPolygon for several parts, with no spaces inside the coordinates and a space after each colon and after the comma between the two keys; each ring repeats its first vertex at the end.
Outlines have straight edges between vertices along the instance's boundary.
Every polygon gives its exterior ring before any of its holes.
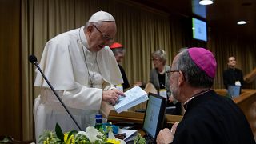
{"type": "Polygon", "coordinates": [[[70,113],[70,110],[68,110],[64,104],[64,102],[62,101],[61,98],[59,98],[58,94],[56,93],[56,91],[54,90],[54,87],[51,86],[50,82],[48,81],[48,79],[46,78],[45,74],[43,74],[40,66],[38,66],[38,62],[34,62],[33,63],[34,66],[37,66],[38,70],[40,71],[40,73],[42,74],[42,77],[46,80],[47,84],[50,86],[50,89],[53,90],[54,94],[56,95],[56,97],[58,98],[59,102],[62,103],[62,106],[65,108],[66,112],[68,114],[70,114],[70,117],[72,118],[72,120],[74,121],[74,123],[76,124],[76,126],[78,126],[78,129],[82,131],[82,128],[78,125],[78,122],[74,119],[73,115],[70,113]]]}

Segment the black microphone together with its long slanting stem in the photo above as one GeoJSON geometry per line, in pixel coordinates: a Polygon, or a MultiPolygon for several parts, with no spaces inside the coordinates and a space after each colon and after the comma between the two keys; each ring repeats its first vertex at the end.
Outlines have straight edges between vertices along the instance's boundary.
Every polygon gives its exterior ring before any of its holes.
{"type": "Polygon", "coordinates": [[[62,101],[61,98],[59,98],[57,92],[54,90],[54,87],[51,86],[50,82],[48,81],[48,79],[46,78],[45,74],[43,74],[40,66],[38,66],[38,59],[32,54],[29,56],[29,61],[31,63],[34,64],[34,66],[37,66],[38,70],[40,71],[40,73],[42,74],[42,77],[46,80],[47,84],[50,86],[50,89],[53,90],[55,96],[58,98],[58,101],[62,103],[62,106],[65,108],[66,112],[70,115],[70,117],[72,118],[72,120],[74,121],[74,123],[78,126],[79,130],[82,131],[82,128],[78,125],[78,122],[74,119],[73,115],[70,113],[70,110],[68,110],[64,104],[64,102],[62,101]]]}

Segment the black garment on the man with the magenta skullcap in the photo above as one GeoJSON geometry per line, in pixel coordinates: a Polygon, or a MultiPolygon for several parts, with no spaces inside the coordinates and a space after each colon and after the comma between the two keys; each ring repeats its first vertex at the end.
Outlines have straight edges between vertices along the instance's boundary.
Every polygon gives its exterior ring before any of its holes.
{"type": "Polygon", "coordinates": [[[255,144],[245,115],[230,98],[210,90],[186,107],[173,144],[255,144]]]}

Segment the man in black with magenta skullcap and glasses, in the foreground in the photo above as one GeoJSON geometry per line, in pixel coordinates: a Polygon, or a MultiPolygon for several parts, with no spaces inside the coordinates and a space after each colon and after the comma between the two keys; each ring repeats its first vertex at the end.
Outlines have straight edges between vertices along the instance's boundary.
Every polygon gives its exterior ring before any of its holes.
{"type": "Polygon", "coordinates": [[[204,48],[182,49],[170,70],[170,91],[186,113],[171,130],[161,130],[158,144],[252,144],[254,135],[242,110],[212,90],[217,63],[204,48]]]}

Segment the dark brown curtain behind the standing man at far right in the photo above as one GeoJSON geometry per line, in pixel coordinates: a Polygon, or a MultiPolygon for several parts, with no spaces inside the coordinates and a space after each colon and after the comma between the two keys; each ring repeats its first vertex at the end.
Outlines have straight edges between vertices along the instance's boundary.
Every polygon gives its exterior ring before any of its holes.
{"type": "MultiPolygon", "coordinates": [[[[214,79],[214,88],[224,88],[222,73],[228,68],[228,58],[236,58],[236,68],[242,70],[243,75],[249,74],[256,68],[255,38],[240,35],[223,34],[212,30],[207,47],[214,53],[217,61],[217,73],[214,79]]],[[[245,83],[245,89],[255,89],[256,81],[245,83]]]]}

